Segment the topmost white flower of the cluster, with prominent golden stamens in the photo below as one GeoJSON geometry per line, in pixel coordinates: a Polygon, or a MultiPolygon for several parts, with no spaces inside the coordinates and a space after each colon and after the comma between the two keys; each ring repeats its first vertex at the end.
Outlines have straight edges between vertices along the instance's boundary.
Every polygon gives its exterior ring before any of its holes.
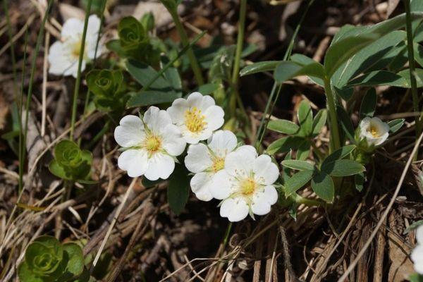
{"type": "Polygon", "coordinates": [[[200,92],[193,92],[188,99],[176,99],[167,111],[190,144],[206,140],[223,125],[223,109],[215,105],[212,97],[200,92]]]}

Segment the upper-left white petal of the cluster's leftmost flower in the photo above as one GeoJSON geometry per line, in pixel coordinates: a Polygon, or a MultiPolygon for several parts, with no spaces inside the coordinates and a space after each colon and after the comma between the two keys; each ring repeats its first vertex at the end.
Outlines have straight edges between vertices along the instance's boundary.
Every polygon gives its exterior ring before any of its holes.
{"type": "Polygon", "coordinates": [[[139,117],[124,116],[115,128],[114,137],[121,147],[133,147],[140,145],[145,138],[144,125],[139,117]]]}

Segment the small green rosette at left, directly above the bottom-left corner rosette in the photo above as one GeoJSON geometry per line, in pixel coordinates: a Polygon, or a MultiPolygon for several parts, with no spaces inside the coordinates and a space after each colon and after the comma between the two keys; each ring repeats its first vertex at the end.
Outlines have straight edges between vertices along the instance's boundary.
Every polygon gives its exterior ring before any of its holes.
{"type": "Polygon", "coordinates": [[[49,170],[55,176],[65,180],[86,180],[90,175],[92,154],[81,150],[71,140],[62,140],[54,147],[54,160],[49,170]]]}

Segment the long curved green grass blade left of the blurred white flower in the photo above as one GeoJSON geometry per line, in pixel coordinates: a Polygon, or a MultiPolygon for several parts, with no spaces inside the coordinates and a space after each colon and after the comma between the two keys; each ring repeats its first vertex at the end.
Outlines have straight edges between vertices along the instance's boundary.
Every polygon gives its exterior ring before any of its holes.
{"type": "MultiPolygon", "coordinates": [[[[41,27],[39,27],[39,32],[38,32],[38,35],[37,35],[37,44],[35,44],[34,56],[32,57],[30,81],[28,82],[28,92],[27,92],[27,99],[26,99],[26,103],[25,103],[25,129],[24,129],[24,132],[23,132],[22,142],[20,142],[20,150],[21,150],[20,156],[21,156],[21,158],[20,158],[19,166],[23,166],[23,161],[25,160],[25,154],[26,154],[25,144],[26,144],[26,137],[27,137],[27,132],[28,132],[28,119],[29,119],[29,116],[30,116],[30,104],[31,104],[31,101],[32,101],[32,87],[34,86],[35,70],[36,70],[36,67],[37,67],[37,57],[38,57],[39,47],[41,46],[42,39],[44,37],[44,27],[46,25],[47,18],[49,17],[49,11],[51,9],[51,5],[53,4],[53,1],[54,0],[49,0],[49,4],[47,6],[46,12],[44,13],[44,17],[42,18],[42,24],[41,24],[41,27]]],[[[25,49],[26,49],[26,47],[25,47],[25,49]]],[[[25,51],[25,53],[26,53],[26,51],[25,51]]],[[[25,75],[25,73],[23,73],[23,75],[25,75]]],[[[22,112],[21,112],[21,114],[22,114],[22,112]]],[[[22,177],[21,175],[23,175],[23,169],[22,169],[22,171],[20,171],[20,178],[22,177]]],[[[20,182],[21,182],[21,180],[20,180],[20,182]]],[[[20,185],[22,185],[22,183],[20,185]]]]}

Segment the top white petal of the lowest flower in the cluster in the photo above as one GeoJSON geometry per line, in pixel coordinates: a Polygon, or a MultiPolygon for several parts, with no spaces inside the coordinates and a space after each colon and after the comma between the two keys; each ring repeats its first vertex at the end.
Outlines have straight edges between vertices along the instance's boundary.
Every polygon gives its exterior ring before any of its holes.
{"type": "Polygon", "coordinates": [[[226,172],[238,178],[250,176],[257,157],[257,152],[252,149],[251,146],[244,145],[229,153],[225,159],[226,172]]]}

